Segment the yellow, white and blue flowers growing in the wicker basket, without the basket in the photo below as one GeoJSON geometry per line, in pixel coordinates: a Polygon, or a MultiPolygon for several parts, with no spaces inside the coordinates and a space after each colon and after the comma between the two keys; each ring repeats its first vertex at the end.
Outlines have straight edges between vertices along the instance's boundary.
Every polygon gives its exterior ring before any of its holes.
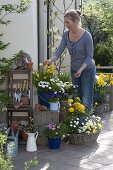
{"type": "Polygon", "coordinates": [[[75,100],[68,99],[68,102],[70,107],[65,113],[68,134],[90,134],[101,131],[103,127],[101,118],[90,115],[78,97],[75,100]]]}

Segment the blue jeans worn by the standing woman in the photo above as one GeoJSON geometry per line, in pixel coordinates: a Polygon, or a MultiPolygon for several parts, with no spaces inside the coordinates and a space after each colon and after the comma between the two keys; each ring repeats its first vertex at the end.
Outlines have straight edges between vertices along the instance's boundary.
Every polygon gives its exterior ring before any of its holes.
{"type": "Polygon", "coordinates": [[[93,108],[93,93],[96,68],[93,66],[91,69],[83,70],[81,76],[78,78],[74,77],[74,73],[75,71],[71,70],[72,83],[77,88],[78,97],[80,97],[87,110],[91,111],[93,108]]]}

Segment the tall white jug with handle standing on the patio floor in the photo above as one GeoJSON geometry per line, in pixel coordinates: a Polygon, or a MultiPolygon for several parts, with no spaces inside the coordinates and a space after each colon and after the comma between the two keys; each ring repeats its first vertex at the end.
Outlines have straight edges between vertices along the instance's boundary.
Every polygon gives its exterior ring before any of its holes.
{"type": "Polygon", "coordinates": [[[28,133],[26,151],[28,152],[37,151],[37,144],[36,144],[37,137],[38,137],[38,132],[28,133]]]}

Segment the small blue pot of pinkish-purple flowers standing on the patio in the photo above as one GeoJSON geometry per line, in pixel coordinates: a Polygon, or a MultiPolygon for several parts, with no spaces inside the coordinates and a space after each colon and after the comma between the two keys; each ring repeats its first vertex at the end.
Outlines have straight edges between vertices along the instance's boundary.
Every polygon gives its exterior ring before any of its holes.
{"type": "Polygon", "coordinates": [[[44,134],[48,138],[49,148],[59,149],[62,137],[65,137],[67,134],[67,126],[64,123],[49,123],[46,126],[44,134]]]}

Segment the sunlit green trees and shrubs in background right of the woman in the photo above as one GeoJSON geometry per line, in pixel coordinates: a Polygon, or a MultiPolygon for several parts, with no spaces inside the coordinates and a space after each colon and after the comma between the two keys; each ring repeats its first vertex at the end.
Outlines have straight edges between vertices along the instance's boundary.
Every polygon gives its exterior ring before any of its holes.
{"type": "Polygon", "coordinates": [[[94,41],[96,64],[113,63],[113,0],[84,3],[83,25],[91,32],[94,41]]]}

